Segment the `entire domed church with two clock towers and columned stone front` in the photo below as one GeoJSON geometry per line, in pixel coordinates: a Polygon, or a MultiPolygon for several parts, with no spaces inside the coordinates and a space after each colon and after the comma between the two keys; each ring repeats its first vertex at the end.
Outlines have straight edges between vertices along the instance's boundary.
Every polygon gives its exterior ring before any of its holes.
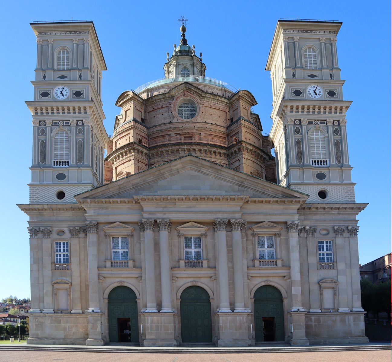
{"type": "Polygon", "coordinates": [[[118,97],[109,137],[93,23],[31,26],[27,343],[368,341],[341,23],[278,21],[269,136],[183,24],[165,77],[118,97]]]}

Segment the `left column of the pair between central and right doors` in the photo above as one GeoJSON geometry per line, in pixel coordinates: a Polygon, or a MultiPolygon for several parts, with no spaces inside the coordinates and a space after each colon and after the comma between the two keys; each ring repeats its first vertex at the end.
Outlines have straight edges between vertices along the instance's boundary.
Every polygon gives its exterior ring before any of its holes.
{"type": "Polygon", "coordinates": [[[216,219],[212,225],[218,241],[219,300],[218,312],[231,312],[229,302],[229,273],[227,271],[227,219],[216,219]]]}

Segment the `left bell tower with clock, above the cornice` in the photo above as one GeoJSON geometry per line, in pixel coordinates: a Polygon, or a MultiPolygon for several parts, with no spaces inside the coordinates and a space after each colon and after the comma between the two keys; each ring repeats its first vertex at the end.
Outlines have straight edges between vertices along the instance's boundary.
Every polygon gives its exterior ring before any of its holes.
{"type": "Polygon", "coordinates": [[[105,60],[91,21],[34,22],[33,164],[30,204],[74,203],[103,184],[102,71],[105,60]]]}

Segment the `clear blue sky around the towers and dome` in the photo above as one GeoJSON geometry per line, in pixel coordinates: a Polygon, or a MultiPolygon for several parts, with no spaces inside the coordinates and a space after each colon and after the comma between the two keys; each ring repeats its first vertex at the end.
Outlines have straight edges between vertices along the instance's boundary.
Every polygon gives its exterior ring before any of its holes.
{"type": "Polygon", "coordinates": [[[278,18],[333,19],[343,22],[338,35],[339,66],[346,100],[352,180],[357,202],[368,202],[359,218],[359,263],[390,252],[390,2],[213,1],[5,2],[2,17],[3,124],[1,157],[0,298],[30,296],[27,215],[15,204],[28,203],[31,165],[31,114],[36,41],[29,25],[36,20],[91,19],[107,64],[102,101],[107,133],[113,133],[114,106],[124,90],[164,76],[166,52],[180,41],[181,15],[188,18],[187,39],[203,52],[206,76],[255,96],[263,133],[272,125],[272,91],[266,72],[278,18]],[[64,2],[62,2],[64,4],[64,2]],[[285,5],[286,4],[286,5],[285,5]]]}

